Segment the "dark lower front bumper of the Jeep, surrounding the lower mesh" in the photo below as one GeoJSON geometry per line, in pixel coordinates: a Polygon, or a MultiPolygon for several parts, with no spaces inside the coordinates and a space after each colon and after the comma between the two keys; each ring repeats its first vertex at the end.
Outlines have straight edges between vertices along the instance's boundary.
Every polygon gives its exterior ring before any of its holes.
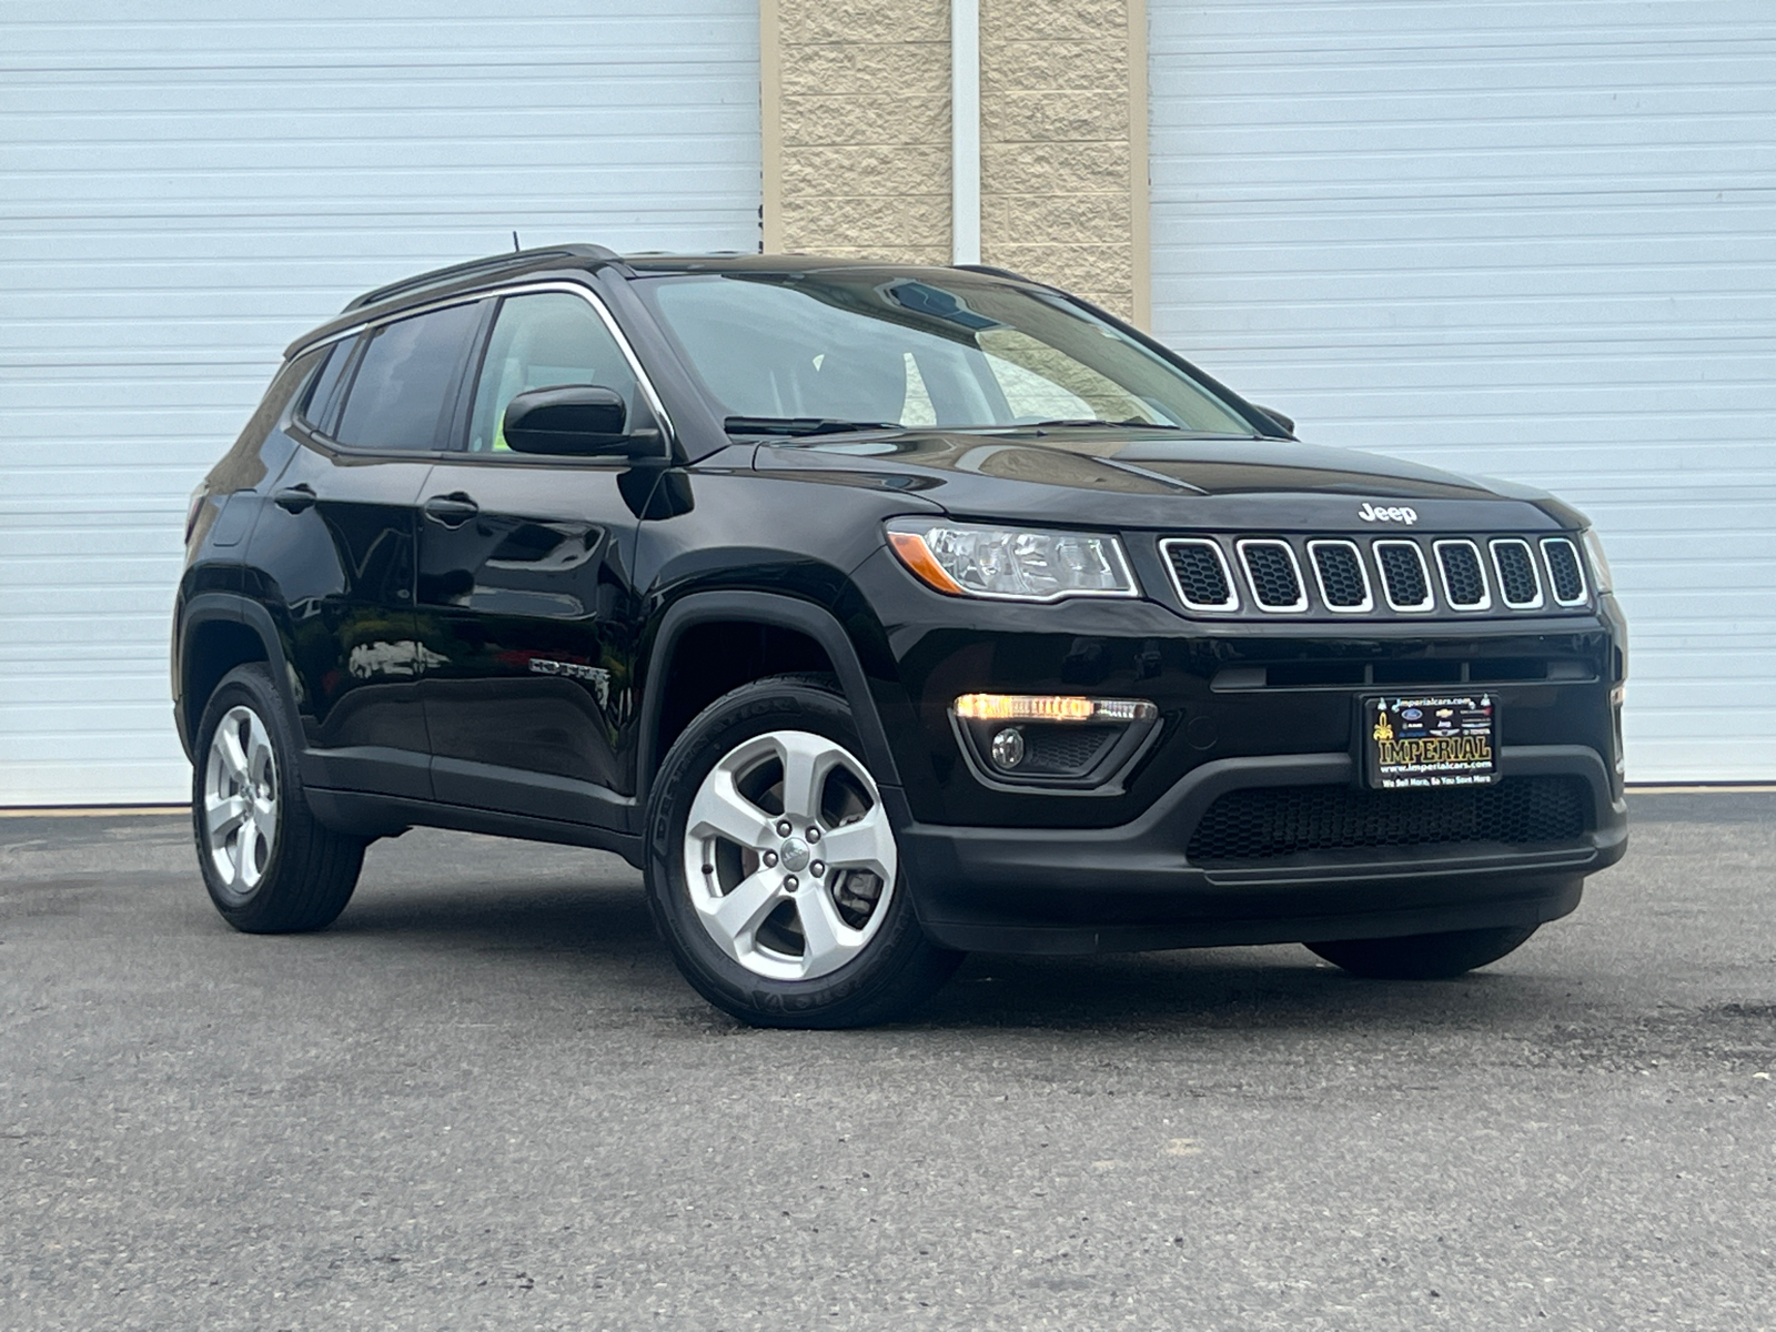
{"type": "Polygon", "coordinates": [[[1584,876],[1627,849],[1627,805],[1588,746],[1508,746],[1504,780],[1572,778],[1584,831],[1534,845],[1446,842],[1193,865],[1192,833],[1247,787],[1352,787],[1346,753],[1222,758],[1112,828],[918,822],[895,789],[902,858],[925,932],[979,952],[1087,954],[1385,938],[1534,925],[1579,904],[1584,876]]]}

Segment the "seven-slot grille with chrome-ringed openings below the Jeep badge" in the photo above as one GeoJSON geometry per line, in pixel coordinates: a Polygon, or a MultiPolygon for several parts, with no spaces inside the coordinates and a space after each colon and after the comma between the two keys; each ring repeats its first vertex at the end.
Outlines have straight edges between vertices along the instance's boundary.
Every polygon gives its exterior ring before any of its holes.
{"type": "Polygon", "coordinates": [[[1568,536],[1169,536],[1172,584],[1195,614],[1481,614],[1582,611],[1568,536]]]}

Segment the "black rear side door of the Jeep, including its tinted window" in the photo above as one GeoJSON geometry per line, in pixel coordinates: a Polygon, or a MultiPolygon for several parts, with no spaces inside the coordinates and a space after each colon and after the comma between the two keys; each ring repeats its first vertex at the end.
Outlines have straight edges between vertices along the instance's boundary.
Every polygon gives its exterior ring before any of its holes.
{"type": "Polygon", "coordinates": [[[432,794],[416,504],[483,314],[481,304],[451,305],[343,339],[295,416],[302,448],[254,529],[249,565],[282,622],[311,785],[432,794]]]}

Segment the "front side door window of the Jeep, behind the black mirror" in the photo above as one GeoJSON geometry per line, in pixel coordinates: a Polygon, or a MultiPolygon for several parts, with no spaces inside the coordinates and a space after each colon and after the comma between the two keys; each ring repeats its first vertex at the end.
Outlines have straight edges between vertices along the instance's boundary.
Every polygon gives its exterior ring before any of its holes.
{"type": "Polygon", "coordinates": [[[487,343],[469,416],[471,453],[508,453],[506,405],[529,389],[597,384],[614,389],[636,421],[636,375],[599,313],[568,291],[508,297],[487,343]]]}

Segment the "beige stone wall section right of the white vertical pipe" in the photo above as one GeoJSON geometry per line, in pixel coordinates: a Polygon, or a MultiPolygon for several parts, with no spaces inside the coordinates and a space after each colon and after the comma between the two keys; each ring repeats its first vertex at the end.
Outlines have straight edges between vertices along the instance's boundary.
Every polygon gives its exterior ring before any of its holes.
{"type": "Polygon", "coordinates": [[[1144,21],[1138,0],[980,0],[980,259],[1124,318],[1146,316],[1144,21]]]}

